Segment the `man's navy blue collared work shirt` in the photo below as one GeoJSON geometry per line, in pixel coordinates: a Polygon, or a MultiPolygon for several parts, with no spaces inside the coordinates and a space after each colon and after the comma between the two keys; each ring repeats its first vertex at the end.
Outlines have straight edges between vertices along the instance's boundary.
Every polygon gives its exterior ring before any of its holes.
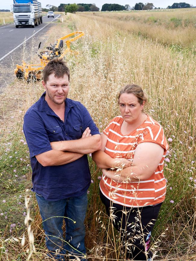
{"type": "Polygon", "coordinates": [[[46,200],[80,196],[90,185],[87,155],[61,166],[42,166],[36,155],[52,150],[50,142],[80,139],[89,127],[91,135],[100,134],[87,109],[66,98],[63,122],[45,101],[46,92],[24,115],[24,135],[30,151],[33,191],[46,200]]]}

